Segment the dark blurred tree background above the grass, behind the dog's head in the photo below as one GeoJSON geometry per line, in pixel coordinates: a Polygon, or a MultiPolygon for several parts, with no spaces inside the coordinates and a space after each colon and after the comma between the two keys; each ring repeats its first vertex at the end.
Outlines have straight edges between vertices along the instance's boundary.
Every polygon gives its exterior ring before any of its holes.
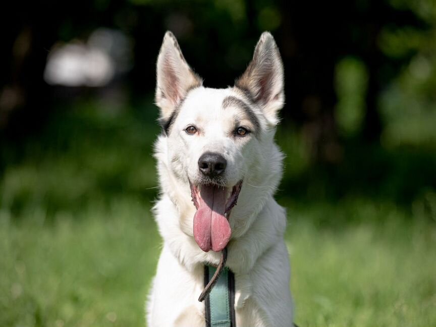
{"type": "Polygon", "coordinates": [[[52,140],[41,135],[63,138],[66,130],[49,135],[47,126],[85,102],[154,119],[157,109],[148,104],[166,30],[209,87],[232,85],[260,33],[270,30],[286,70],[279,138],[298,138],[304,147],[304,163],[285,176],[287,194],[358,193],[407,204],[436,185],[431,1],[98,0],[16,3],[2,12],[0,172],[25,159],[29,140],[45,147],[52,140]],[[113,44],[122,47],[114,65],[121,61],[123,70],[101,86],[48,85],[43,74],[53,48],[86,46],[98,28],[127,40],[113,44]]]}

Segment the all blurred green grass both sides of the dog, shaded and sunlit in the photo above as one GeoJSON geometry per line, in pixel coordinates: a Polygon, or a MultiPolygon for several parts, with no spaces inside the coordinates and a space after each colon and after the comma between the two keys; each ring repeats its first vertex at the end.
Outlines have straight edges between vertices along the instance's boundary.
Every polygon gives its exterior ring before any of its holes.
{"type": "MultiPolygon", "coordinates": [[[[153,120],[83,110],[21,154],[2,149],[0,327],[145,325],[161,245],[150,214],[153,120]]],[[[289,155],[297,143],[282,146],[289,155]]],[[[290,157],[298,174],[304,157],[290,157]]],[[[410,207],[278,196],[300,327],[436,325],[434,191],[410,207]]]]}

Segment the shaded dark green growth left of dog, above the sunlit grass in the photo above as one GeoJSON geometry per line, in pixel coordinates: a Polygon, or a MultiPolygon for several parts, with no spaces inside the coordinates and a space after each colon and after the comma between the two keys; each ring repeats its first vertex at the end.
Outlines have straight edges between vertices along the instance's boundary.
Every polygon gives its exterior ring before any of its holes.
{"type": "Polygon", "coordinates": [[[159,132],[157,109],[111,113],[95,102],[77,106],[55,115],[38,138],[13,148],[24,160],[14,164],[13,149],[2,149],[9,162],[0,180],[3,208],[20,215],[42,207],[50,215],[114,195],[154,197],[150,156],[159,132]]]}

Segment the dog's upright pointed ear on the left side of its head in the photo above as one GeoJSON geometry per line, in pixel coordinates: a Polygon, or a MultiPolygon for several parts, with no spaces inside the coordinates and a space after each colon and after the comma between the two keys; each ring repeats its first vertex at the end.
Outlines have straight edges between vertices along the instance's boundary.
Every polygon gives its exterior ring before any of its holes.
{"type": "Polygon", "coordinates": [[[171,116],[174,108],[194,87],[201,86],[202,80],[189,67],[179,43],[168,31],[163,37],[156,64],[155,102],[161,110],[161,118],[171,116]]]}

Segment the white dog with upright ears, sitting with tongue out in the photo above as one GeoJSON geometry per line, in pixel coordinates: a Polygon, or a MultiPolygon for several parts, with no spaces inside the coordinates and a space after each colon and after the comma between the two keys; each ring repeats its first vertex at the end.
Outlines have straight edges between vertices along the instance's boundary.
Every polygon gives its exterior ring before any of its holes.
{"type": "Polygon", "coordinates": [[[233,87],[207,88],[175,36],[163,37],[155,103],[160,194],[153,207],[163,247],[146,304],[149,327],[204,327],[204,264],[235,278],[238,327],[293,325],[286,211],[273,198],[283,153],[274,141],[284,105],[279,49],[262,33],[233,87]]]}

